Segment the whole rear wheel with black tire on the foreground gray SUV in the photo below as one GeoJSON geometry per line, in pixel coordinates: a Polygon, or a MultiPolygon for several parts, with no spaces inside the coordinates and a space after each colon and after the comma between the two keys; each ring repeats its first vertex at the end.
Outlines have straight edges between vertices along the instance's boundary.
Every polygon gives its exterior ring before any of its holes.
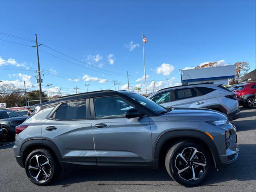
{"type": "Polygon", "coordinates": [[[25,170],[29,180],[39,186],[50,184],[61,172],[58,160],[52,152],[46,149],[32,151],[26,158],[25,170]],[[36,160],[36,156],[38,161],[36,160]],[[49,162],[47,163],[47,161],[49,162]],[[34,168],[31,168],[30,164],[34,168]],[[38,164],[39,166],[37,166],[38,164]]]}

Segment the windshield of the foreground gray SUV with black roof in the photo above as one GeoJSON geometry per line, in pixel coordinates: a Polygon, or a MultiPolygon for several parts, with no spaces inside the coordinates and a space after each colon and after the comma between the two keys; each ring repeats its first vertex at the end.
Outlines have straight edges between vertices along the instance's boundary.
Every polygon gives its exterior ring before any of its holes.
{"type": "Polygon", "coordinates": [[[161,114],[163,112],[166,112],[166,108],[160,106],[159,104],[156,104],[154,101],[139,95],[139,94],[126,94],[128,97],[132,98],[133,100],[135,100],[136,102],[142,104],[143,106],[145,106],[146,108],[150,109],[151,111],[153,111],[156,114],[161,114]]]}

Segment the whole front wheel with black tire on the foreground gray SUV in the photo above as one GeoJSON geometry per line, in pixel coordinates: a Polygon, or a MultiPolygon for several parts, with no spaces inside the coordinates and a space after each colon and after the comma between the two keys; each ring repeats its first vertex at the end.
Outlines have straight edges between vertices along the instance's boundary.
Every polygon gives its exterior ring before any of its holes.
{"type": "Polygon", "coordinates": [[[211,160],[208,152],[206,152],[206,150],[204,150],[198,144],[181,141],[169,148],[165,158],[165,166],[172,179],[179,184],[192,187],[198,186],[207,177],[211,170],[211,160]],[[195,148],[198,152],[196,152],[196,154],[193,156],[192,161],[189,161],[194,152],[192,152],[193,148],[195,148]],[[186,164],[179,154],[182,154],[188,164],[186,164]],[[198,158],[198,160],[196,158],[198,158]],[[202,166],[196,163],[206,165],[202,166]],[[176,166],[178,166],[179,170],[176,166]],[[178,174],[178,171],[182,172],[178,174]]]}

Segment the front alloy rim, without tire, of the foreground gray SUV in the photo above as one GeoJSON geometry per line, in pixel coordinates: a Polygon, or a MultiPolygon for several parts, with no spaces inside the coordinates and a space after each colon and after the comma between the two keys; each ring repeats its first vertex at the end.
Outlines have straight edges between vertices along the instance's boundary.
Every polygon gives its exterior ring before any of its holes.
{"type": "Polygon", "coordinates": [[[178,175],[186,181],[200,179],[204,175],[206,165],[204,154],[194,147],[185,148],[175,159],[178,175]]]}

